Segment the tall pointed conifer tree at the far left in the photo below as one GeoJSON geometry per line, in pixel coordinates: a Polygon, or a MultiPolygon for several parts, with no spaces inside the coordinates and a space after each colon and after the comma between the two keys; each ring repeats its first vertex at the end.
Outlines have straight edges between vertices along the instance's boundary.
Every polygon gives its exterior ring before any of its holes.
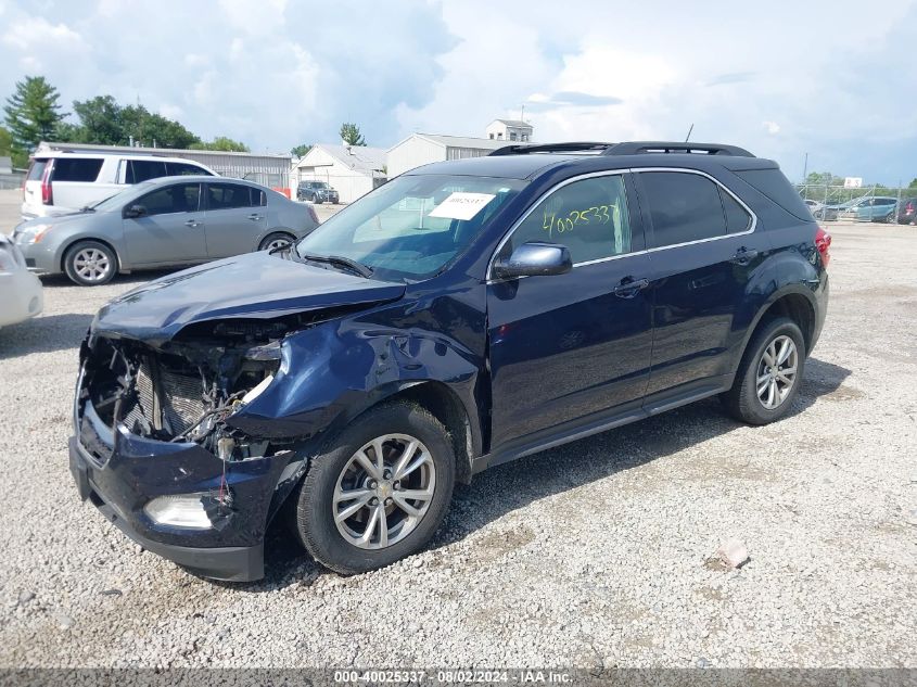
{"type": "Polygon", "coordinates": [[[28,153],[42,140],[53,138],[64,118],[60,93],[43,76],[26,76],[16,81],[15,92],[7,99],[3,112],[13,137],[13,149],[28,153]]]}

